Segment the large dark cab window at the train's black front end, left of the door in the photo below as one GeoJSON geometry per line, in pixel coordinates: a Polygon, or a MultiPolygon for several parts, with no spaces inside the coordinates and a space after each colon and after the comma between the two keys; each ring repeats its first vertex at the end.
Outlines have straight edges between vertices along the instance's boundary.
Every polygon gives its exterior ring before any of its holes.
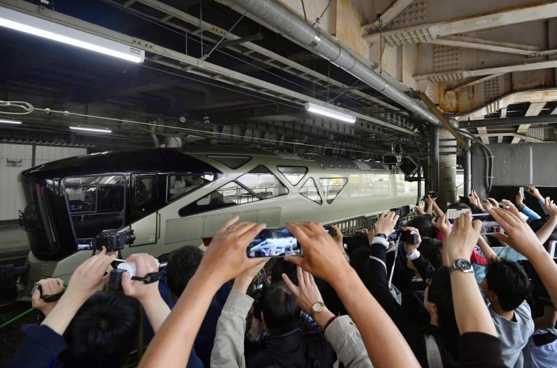
{"type": "Polygon", "coordinates": [[[125,183],[123,175],[65,178],[66,200],[77,239],[123,227],[125,183]]]}

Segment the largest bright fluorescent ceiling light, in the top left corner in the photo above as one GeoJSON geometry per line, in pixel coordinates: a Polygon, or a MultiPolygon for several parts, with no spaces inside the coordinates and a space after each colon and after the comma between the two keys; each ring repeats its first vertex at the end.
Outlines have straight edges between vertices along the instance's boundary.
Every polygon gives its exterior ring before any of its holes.
{"type": "Polygon", "coordinates": [[[58,41],[68,45],[81,47],[101,54],[114,56],[134,63],[142,63],[145,51],[117,43],[107,38],[78,31],[68,26],[49,22],[38,17],[19,13],[15,10],[0,6],[0,26],[5,26],[16,31],[30,33],[49,40],[58,41]]]}

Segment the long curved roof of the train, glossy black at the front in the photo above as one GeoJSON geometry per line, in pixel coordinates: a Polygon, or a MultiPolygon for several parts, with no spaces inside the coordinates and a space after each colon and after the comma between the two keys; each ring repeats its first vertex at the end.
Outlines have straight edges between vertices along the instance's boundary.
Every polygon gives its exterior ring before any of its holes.
{"type": "Polygon", "coordinates": [[[225,155],[258,156],[276,158],[279,160],[313,161],[317,162],[323,169],[386,169],[384,164],[358,162],[347,158],[336,158],[331,156],[302,156],[295,153],[255,150],[215,151],[214,149],[203,148],[146,148],[127,151],[106,151],[56,160],[22,171],[22,176],[33,176],[35,178],[63,178],[65,176],[94,175],[106,172],[184,171],[201,173],[214,171],[214,167],[210,164],[192,155],[208,155],[214,157],[225,155]]]}

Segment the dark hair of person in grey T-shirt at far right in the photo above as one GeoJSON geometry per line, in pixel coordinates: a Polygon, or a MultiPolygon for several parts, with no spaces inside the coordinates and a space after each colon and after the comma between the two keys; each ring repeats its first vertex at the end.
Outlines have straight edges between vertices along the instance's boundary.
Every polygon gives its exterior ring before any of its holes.
{"type": "Polygon", "coordinates": [[[499,305],[505,312],[518,307],[530,293],[528,275],[517,262],[507,259],[490,262],[485,279],[487,289],[496,294],[499,305]]]}

